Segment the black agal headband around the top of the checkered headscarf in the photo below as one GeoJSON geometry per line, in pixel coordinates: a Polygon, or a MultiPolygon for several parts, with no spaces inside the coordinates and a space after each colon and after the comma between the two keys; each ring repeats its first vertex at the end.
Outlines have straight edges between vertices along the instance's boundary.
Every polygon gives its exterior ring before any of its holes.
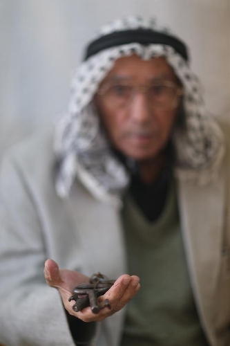
{"type": "Polygon", "coordinates": [[[99,39],[96,39],[88,45],[84,60],[87,60],[88,57],[95,55],[104,49],[131,43],[165,44],[173,47],[175,51],[184,58],[184,60],[189,60],[187,48],[185,44],[180,41],[180,39],[165,33],[159,33],[157,31],[144,28],[136,30],[114,31],[111,34],[99,37],[99,39]]]}

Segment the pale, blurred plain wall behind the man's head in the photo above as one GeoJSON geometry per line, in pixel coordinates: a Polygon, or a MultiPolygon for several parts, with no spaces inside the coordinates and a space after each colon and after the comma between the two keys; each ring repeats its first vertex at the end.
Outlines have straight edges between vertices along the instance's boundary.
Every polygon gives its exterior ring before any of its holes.
{"type": "Polygon", "coordinates": [[[191,48],[207,108],[230,120],[229,0],[0,0],[0,157],[68,102],[82,48],[107,21],[152,15],[191,48]]]}

